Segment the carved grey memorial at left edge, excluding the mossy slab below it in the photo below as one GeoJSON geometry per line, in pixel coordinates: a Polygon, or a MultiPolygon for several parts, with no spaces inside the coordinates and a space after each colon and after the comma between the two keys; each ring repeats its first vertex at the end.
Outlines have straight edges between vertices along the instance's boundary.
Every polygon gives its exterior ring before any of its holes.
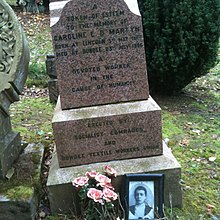
{"type": "Polygon", "coordinates": [[[19,100],[28,73],[29,49],[10,6],[0,2],[0,178],[21,151],[18,132],[12,131],[9,106],[19,100]]]}

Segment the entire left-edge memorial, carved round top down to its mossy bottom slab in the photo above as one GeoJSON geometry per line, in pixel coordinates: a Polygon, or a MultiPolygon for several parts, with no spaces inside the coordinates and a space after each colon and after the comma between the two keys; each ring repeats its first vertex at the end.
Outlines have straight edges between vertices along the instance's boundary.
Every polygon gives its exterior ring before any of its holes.
{"type": "MultiPolygon", "coordinates": [[[[0,1],[0,219],[35,219],[42,144],[21,143],[13,131],[9,107],[19,100],[29,63],[22,27],[11,7],[0,1]],[[37,189],[37,190],[36,190],[37,189]]],[[[15,116],[16,117],[16,116],[15,116]]]]}

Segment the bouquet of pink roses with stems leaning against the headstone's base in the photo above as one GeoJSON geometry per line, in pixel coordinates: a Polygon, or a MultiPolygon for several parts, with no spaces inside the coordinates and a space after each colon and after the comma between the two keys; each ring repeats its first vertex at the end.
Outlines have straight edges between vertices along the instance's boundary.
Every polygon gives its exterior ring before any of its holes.
{"type": "Polygon", "coordinates": [[[118,194],[111,184],[111,178],[116,177],[116,171],[106,166],[104,174],[90,171],[72,182],[78,190],[82,216],[86,220],[119,219],[117,208],[114,205],[118,200],[118,194]]]}

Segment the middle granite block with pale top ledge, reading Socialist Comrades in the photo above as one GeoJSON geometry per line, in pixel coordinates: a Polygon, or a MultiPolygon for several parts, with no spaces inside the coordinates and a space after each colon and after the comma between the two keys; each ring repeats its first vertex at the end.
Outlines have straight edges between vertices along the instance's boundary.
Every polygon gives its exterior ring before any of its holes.
{"type": "Polygon", "coordinates": [[[53,116],[60,167],[163,153],[161,109],[148,100],[62,110],[53,116]]]}

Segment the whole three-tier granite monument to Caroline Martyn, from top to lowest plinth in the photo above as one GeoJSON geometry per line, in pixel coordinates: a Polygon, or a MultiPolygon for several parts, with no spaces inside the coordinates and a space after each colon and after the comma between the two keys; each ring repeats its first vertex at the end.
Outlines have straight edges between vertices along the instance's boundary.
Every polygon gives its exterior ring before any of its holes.
{"type": "Polygon", "coordinates": [[[181,206],[181,167],[162,142],[161,109],[149,95],[137,1],[52,1],[50,13],[60,91],[52,211],[73,209],[72,178],[104,164],[119,170],[119,191],[125,173],[164,173],[165,204],[173,194],[181,206]]]}

